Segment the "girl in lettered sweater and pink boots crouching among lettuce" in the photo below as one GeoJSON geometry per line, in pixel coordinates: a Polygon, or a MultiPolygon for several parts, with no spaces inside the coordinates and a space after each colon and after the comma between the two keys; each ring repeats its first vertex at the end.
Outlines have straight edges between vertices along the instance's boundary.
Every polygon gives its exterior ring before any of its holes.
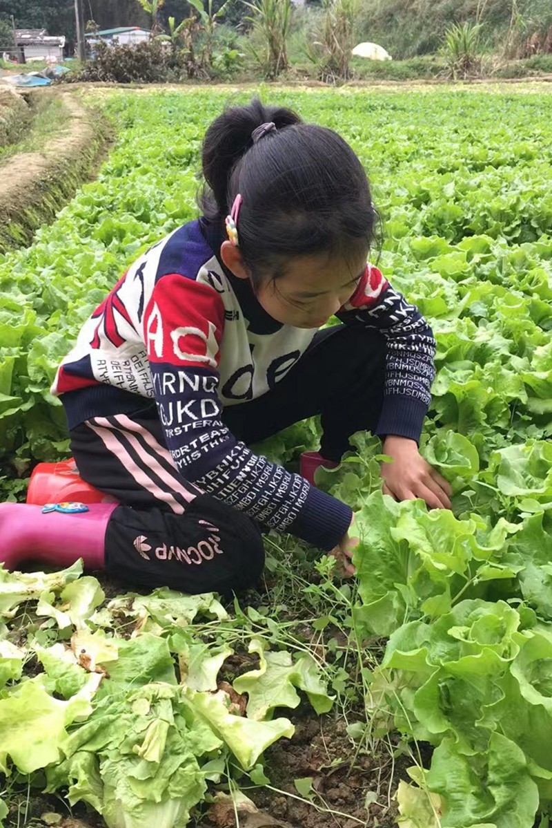
{"type": "Polygon", "coordinates": [[[81,476],[120,505],[7,504],[0,561],[23,547],[82,556],[131,584],[197,593],[255,582],[259,526],[350,554],[350,507],[248,448],[315,414],[320,462],[373,431],[393,460],[386,493],[450,507],[417,446],[434,339],[366,264],[378,216],[355,153],[255,99],[212,123],[202,169],[202,217],[131,265],[52,388],[81,476]],[[334,314],[342,324],[319,331],[334,314]]]}

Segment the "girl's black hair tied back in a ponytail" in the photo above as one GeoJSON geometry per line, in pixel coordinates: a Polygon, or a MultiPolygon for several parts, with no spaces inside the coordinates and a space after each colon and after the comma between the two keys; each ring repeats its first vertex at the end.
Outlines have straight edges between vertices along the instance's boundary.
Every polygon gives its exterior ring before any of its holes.
{"type": "Polygon", "coordinates": [[[238,193],[240,253],[254,288],[285,271],[297,256],[345,258],[369,248],[378,213],[355,152],[326,127],[304,123],[291,109],[259,99],[226,109],[207,129],[202,147],[200,207],[224,229],[238,193]],[[252,132],[274,122],[256,143],[252,132]]]}

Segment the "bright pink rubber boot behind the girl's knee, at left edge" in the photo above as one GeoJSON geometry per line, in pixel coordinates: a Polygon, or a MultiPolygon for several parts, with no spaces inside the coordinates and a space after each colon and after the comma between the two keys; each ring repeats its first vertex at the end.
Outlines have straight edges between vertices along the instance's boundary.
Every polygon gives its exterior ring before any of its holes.
{"type": "Polygon", "coordinates": [[[0,563],[13,570],[21,561],[70,566],[83,558],[86,569],[102,569],[107,523],[117,503],[64,503],[61,508],[75,506],[86,511],[61,512],[60,504],[0,503],[0,563]]]}

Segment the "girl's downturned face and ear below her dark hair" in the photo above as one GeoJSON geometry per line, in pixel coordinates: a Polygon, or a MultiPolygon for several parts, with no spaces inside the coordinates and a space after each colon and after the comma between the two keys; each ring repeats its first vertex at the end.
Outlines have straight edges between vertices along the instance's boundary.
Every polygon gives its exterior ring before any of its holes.
{"type": "MultiPolygon", "coordinates": [[[[222,248],[225,248],[226,242],[222,248]]],[[[226,251],[221,250],[226,267],[240,278],[250,278],[243,262],[236,259],[238,248],[231,248],[226,262],[226,251]]],[[[255,296],[266,312],[283,325],[295,328],[320,328],[331,315],[350,300],[366,268],[368,249],[345,261],[330,258],[327,253],[302,256],[287,262],[285,271],[270,279],[256,291],[255,296]]]]}

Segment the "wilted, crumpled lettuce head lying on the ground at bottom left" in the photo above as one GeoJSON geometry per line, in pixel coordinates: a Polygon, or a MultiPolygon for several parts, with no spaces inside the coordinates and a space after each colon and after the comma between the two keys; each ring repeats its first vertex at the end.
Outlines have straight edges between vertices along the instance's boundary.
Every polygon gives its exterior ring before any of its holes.
{"type": "Polygon", "coordinates": [[[69,802],[88,802],[109,828],[184,828],[207,789],[201,765],[222,745],[181,688],[150,684],[96,706],[64,740],[46,789],[69,784],[69,802]]]}

